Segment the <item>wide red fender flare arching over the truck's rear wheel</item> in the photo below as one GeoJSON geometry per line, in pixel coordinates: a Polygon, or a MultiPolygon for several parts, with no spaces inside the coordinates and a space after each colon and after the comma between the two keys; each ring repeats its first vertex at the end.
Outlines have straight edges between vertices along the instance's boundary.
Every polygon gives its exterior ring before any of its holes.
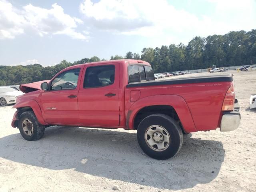
{"type": "Polygon", "coordinates": [[[154,95],[134,102],[129,110],[126,111],[126,126],[129,129],[134,129],[134,119],[137,113],[144,107],[154,105],[172,106],[180,118],[184,131],[188,133],[197,131],[186,101],[178,95],[154,95]]]}

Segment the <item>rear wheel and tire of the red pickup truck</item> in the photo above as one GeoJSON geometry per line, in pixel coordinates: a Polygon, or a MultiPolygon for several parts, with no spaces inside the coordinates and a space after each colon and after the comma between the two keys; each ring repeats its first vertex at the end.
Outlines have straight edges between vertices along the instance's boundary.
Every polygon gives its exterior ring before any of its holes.
{"type": "Polygon", "coordinates": [[[183,143],[183,134],[180,126],[170,116],[152,114],[140,122],[137,140],[145,154],[165,160],[178,153],[183,143]]]}

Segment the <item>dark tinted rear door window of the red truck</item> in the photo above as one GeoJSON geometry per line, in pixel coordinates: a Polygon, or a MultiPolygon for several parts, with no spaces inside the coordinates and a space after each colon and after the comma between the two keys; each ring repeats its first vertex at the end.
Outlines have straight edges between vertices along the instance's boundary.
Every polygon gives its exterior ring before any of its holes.
{"type": "Polygon", "coordinates": [[[115,66],[88,67],[84,77],[84,88],[104,87],[115,81],[115,66]]]}

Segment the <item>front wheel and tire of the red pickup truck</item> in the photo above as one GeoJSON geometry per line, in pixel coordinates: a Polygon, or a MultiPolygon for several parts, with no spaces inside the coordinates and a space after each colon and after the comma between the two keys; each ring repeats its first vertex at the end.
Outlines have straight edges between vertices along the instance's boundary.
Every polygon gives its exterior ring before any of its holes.
{"type": "Polygon", "coordinates": [[[28,141],[35,141],[44,135],[44,125],[41,125],[33,111],[25,111],[20,115],[18,128],[22,137],[28,141]]]}

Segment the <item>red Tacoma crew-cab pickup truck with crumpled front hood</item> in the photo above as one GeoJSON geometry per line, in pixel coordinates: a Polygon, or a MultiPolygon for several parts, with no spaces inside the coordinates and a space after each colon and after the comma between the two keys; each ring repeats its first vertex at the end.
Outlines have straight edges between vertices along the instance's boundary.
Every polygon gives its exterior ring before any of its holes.
{"type": "Polygon", "coordinates": [[[38,140],[52,125],[137,130],[150,157],[167,159],[183,134],[236,129],[240,123],[231,75],[155,81],[148,62],[110,60],[79,64],[50,81],[24,84],[12,127],[38,140]],[[42,84],[41,84],[42,83],[42,84]]]}

